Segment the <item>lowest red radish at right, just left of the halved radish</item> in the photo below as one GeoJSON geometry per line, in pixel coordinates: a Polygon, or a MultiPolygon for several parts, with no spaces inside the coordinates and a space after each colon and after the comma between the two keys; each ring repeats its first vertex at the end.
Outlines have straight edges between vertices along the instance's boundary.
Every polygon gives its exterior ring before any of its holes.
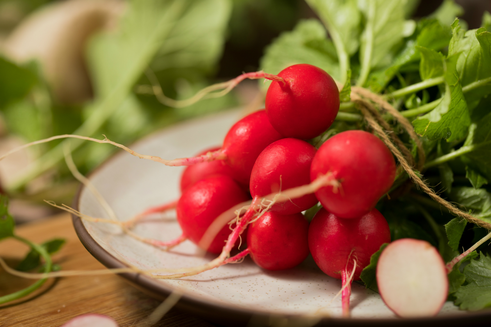
{"type": "Polygon", "coordinates": [[[308,245],[315,263],[324,273],[338,279],[346,267],[348,273],[353,271],[353,258],[356,259],[354,278],[360,279],[361,271],[370,264],[370,257],[384,243],[390,243],[389,225],[377,209],[361,218],[344,219],[322,208],[308,230],[308,245]]]}

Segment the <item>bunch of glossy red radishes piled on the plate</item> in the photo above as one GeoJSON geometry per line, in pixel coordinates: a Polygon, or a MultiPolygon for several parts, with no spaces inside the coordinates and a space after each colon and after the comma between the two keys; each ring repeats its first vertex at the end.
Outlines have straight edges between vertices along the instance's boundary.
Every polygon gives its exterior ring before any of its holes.
{"type": "Polygon", "coordinates": [[[374,207],[392,186],[394,158],[382,140],[359,130],[339,133],[319,149],[305,141],[325,132],[339,110],[336,83],[322,69],[299,64],[265,78],[273,81],[265,110],[232,126],[221,148],[170,164],[189,165],[176,205],[180,239],[221,253],[206,269],[247,254],[263,269],[289,269],[310,252],[323,272],[342,280],[349,316],[351,282],[390,242],[374,207]],[[301,212],[318,202],[324,208],[309,226],[301,212]],[[246,211],[236,211],[232,222],[218,218],[231,208],[246,211]],[[230,258],[244,241],[247,248],[230,258]]]}

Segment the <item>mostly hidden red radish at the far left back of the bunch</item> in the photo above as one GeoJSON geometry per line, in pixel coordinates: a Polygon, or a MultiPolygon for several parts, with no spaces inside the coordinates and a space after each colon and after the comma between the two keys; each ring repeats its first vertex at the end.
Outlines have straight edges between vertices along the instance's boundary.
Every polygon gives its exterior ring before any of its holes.
{"type": "MultiPolygon", "coordinates": [[[[214,152],[221,149],[221,147],[213,147],[206,149],[197,154],[197,156],[204,155],[208,152],[214,152]]],[[[210,162],[204,162],[201,164],[193,164],[187,166],[181,175],[181,192],[186,191],[191,185],[198,181],[212,177],[214,175],[227,175],[232,176],[232,168],[230,168],[223,160],[215,160],[210,162]]]]}

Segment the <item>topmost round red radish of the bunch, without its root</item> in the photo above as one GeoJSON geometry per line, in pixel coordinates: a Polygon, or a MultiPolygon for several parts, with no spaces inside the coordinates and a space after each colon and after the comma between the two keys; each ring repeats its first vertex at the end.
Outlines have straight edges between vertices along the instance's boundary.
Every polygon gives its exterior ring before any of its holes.
{"type": "Polygon", "coordinates": [[[266,93],[266,113],[284,137],[309,139],[331,126],[339,111],[339,90],[322,69],[298,64],[283,69],[281,82],[272,82],[266,93]]]}

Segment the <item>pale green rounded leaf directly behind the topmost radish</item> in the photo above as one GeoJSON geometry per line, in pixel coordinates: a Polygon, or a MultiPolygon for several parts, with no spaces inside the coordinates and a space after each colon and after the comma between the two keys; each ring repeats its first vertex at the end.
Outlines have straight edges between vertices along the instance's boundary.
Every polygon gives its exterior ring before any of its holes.
{"type": "MultiPolygon", "coordinates": [[[[326,40],[326,29],[316,19],[300,21],[290,32],[284,32],[266,48],[261,58],[261,69],[278,74],[288,66],[308,63],[324,69],[335,80],[339,80],[339,67],[327,53],[307,46],[309,42],[326,40]]],[[[260,82],[267,88],[270,82],[260,82]]]]}

